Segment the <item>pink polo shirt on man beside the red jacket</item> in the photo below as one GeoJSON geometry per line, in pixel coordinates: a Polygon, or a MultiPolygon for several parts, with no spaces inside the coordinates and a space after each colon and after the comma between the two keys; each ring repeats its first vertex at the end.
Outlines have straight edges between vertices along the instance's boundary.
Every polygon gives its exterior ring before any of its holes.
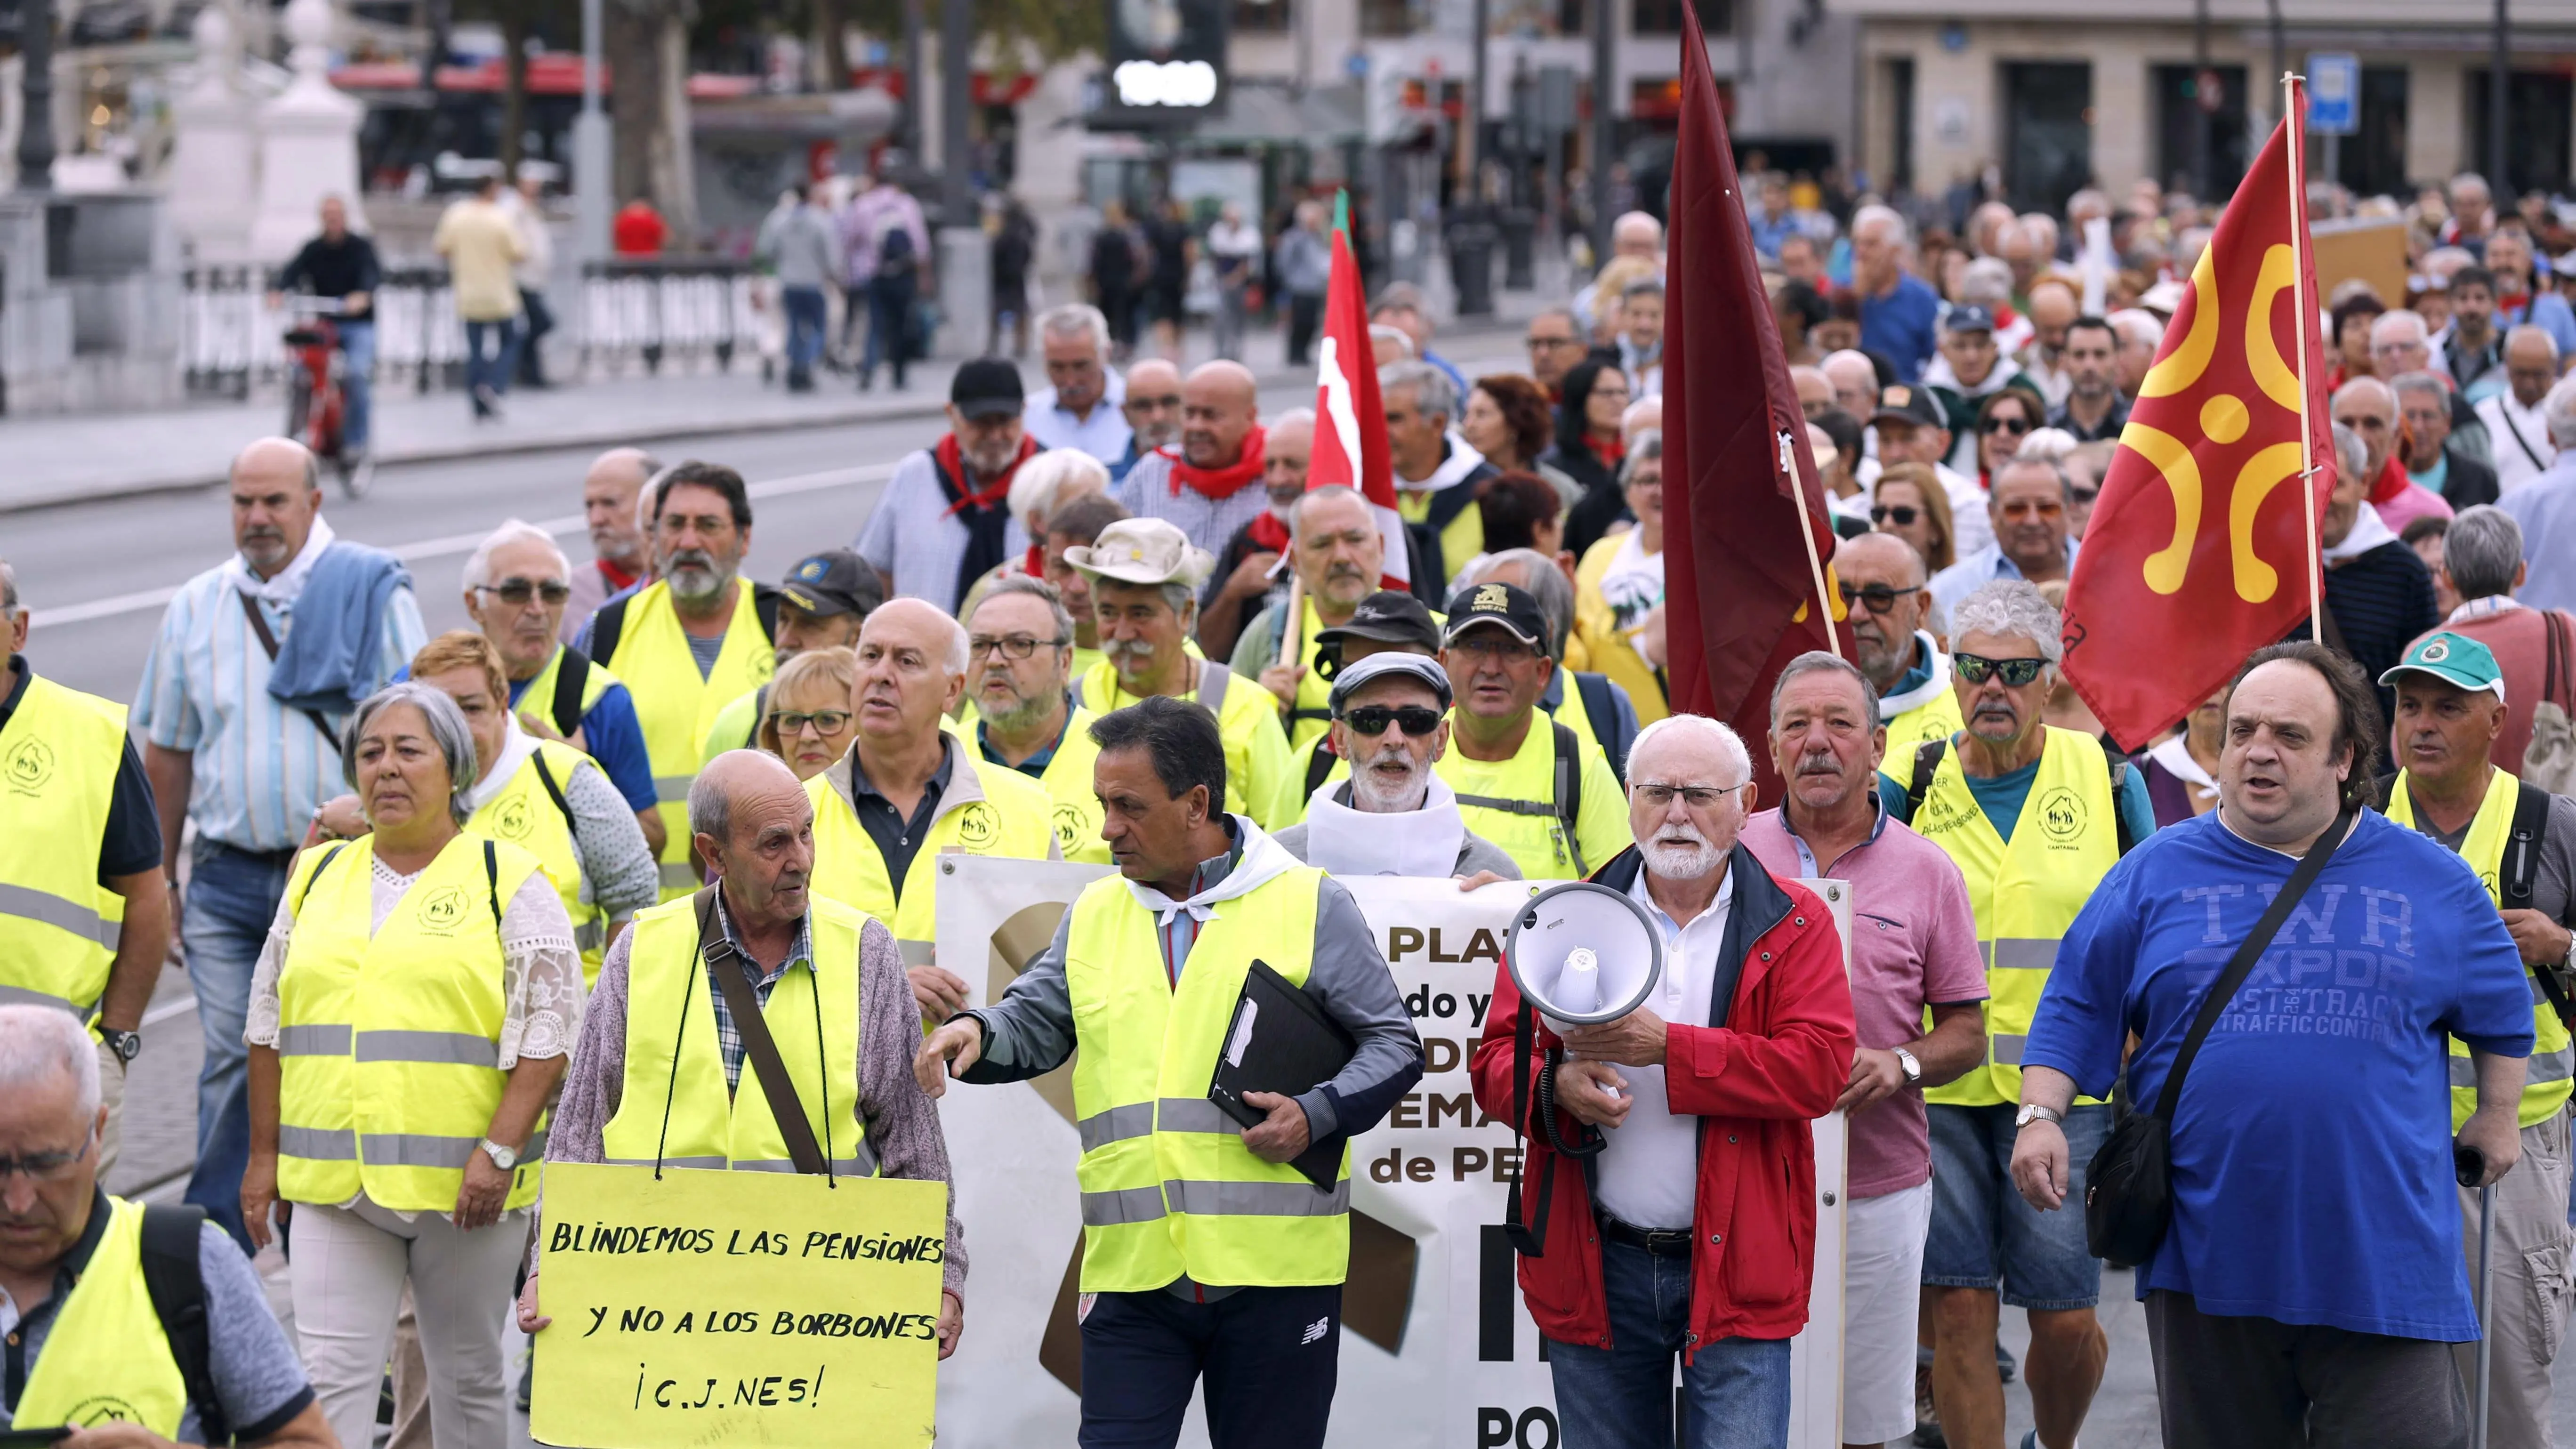
{"type": "MultiPolygon", "coordinates": [[[[1811,861],[1777,810],[1747,820],[1741,841],[1783,879],[1824,874],[1852,884],[1852,1026],[1862,1047],[1886,1052],[1922,1036],[1927,1003],[1986,1000],[1968,882],[1932,841],[1880,812],[1868,843],[1839,861],[1811,861]]],[[[1919,1091],[1852,1116],[1852,1196],[1927,1181],[1932,1134],[1919,1091]]]]}

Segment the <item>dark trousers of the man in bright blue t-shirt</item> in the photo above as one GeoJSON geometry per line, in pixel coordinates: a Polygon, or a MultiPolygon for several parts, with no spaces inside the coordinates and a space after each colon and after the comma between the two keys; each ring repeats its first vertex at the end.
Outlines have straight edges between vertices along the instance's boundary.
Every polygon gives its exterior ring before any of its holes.
{"type": "Polygon", "coordinates": [[[2468,1395],[2450,1343],[2221,1318],[2146,1294],[2164,1441],[2190,1449],[2460,1449],[2468,1395]]]}

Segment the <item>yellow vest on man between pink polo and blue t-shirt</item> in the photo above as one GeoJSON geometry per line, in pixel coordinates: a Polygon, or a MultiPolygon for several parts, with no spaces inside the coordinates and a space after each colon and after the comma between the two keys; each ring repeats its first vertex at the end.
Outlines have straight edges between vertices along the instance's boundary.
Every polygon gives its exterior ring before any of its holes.
{"type": "MultiPolygon", "coordinates": [[[[2102,877],[2120,864],[2120,817],[2110,761],[2084,732],[2045,724],[2040,771],[2012,822],[2012,843],[1968,792],[1958,748],[1942,750],[1914,830],[1950,853],[1968,877],[1976,946],[1986,957],[1986,1067],[1924,1091],[1947,1106],[2022,1101],[2022,1047],[2040,990],[2058,962],[2058,938],[2076,923],[2102,877]]],[[[1893,755],[1891,755],[1893,758],[1893,755]]],[[[2079,1096],[2079,1104],[2099,1098],[2079,1096]]]]}

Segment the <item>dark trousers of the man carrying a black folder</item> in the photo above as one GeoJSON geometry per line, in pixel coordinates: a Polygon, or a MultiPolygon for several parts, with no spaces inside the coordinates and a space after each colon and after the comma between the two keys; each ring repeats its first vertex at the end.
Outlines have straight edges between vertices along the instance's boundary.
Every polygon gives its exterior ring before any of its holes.
{"type": "Polygon", "coordinates": [[[1200,1379],[1216,1449],[1319,1449],[1340,1361],[1340,1284],[1097,1294],[1082,1315],[1082,1449],[1170,1449],[1200,1379]]]}

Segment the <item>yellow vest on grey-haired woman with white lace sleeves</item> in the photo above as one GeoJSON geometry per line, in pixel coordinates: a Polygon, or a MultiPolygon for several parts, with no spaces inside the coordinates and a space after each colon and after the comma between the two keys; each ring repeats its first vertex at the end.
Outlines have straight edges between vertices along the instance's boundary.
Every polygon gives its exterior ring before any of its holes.
{"type": "MultiPolygon", "coordinates": [[[[278,1196],[451,1212],[500,1070],[500,910],[538,871],[518,846],[456,835],[368,938],[376,838],[304,851],[278,969],[278,1196]],[[487,856],[489,851],[489,856],[487,856]],[[489,861],[489,871],[487,871],[489,861]]],[[[505,1207],[536,1201],[544,1122],[505,1207]]]]}

